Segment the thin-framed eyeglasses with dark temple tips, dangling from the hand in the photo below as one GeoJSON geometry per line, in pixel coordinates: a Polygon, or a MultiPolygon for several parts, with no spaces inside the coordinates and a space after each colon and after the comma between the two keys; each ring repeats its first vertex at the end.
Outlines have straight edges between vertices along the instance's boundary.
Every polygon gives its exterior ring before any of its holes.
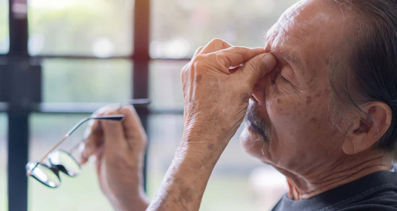
{"type": "MultiPolygon", "coordinates": [[[[133,99],[126,101],[124,103],[120,103],[116,110],[119,110],[123,105],[133,105],[133,104],[148,104],[148,99],[133,99]]],[[[71,128],[66,135],[54,146],[50,151],[39,161],[33,161],[26,164],[26,175],[32,176],[40,183],[48,186],[50,188],[57,188],[61,184],[61,179],[59,172],[63,172],[64,174],[75,177],[81,173],[81,166],[76,159],[71,156],[71,154],[64,150],[55,150],[61,143],[65,141],[67,137],[69,137],[79,126],[81,126],[84,122],[88,120],[98,119],[98,120],[109,120],[109,121],[123,121],[124,115],[106,115],[106,116],[89,116],[82,120],[80,120],[73,128],[71,128]],[[49,163],[43,163],[44,160],[48,158],[49,163]]],[[[77,146],[84,143],[93,132],[95,132],[98,128],[94,128],[81,143],[78,143],[70,151],[76,149],[77,146]]]]}

